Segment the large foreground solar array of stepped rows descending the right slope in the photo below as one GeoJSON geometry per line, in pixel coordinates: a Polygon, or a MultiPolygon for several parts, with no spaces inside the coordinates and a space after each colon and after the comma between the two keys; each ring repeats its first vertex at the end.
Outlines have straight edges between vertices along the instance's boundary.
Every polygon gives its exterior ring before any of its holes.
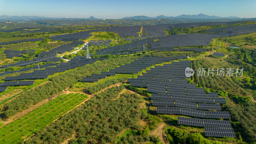
{"type": "MultiPolygon", "coordinates": [[[[218,103],[225,103],[226,100],[220,99],[217,92],[206,93],[204,88],[197,88],[195,84],[187,83],[184,74],[185,69],[190,66],[191,61],[188,60],[172,61],[171,64],[150,68],[137,78],[129,78],[127,83],[130,83],[130,86],[147,87],[148,92],[153,92],[151,99],[153,106],[157,106],[157,113],[230,119],[227,111],[204,111],[204,109],[221,110],[218,103]]],[[[178,123],[205,127],[231,127],[227,121],[207,120],[204,124],[204,119],[195,118],[182,118],[178,123]]]]}

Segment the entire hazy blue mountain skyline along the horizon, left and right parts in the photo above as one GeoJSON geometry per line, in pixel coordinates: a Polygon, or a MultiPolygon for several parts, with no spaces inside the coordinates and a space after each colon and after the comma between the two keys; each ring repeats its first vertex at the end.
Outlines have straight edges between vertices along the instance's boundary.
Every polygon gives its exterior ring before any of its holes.
{"type": "MultiPolygon", "coordinates": [[[[124,17],[122,19],[137,19],[137,20],[149,20],[149,19],[182,19],[182,18],[187,18],[187,19],[242,19],[239,17],[218,17],[218,16],[209,16],[203,13],[200,13],[198,15],[179,15],[176,17],[172,16],[164,16],[164,15],[159,15],[157,17],[147,17],[147,16],[133,16],[133,17],[124,17]]],[[[93,16],[89,18],[55,18],[55,17],[38,17],[38,16],[8,16],[8,15],[2,15],[0,16],[0,20],[5,20],[5,21],[14,21],[14,20],[71,20],[71,19],[84,19],[84,20],[102,20],[98,18],[94,18],[93,16]]]]}

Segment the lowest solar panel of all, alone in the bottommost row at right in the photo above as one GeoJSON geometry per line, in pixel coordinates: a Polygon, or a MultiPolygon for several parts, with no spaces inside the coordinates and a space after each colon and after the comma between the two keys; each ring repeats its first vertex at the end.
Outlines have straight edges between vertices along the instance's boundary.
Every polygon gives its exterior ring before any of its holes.
{"type": "Polygon", "coordinates": [[[232,128],[204,128],[206,136],[212,137],[235,137],[235,133],[232,128]]]}

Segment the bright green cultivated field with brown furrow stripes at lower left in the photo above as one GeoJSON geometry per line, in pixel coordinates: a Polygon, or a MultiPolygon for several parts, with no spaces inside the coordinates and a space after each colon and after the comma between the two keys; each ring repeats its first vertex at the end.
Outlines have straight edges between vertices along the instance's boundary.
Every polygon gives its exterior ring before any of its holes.
{"type": "Polygon", "coordinates": [[[53,99],[28,115],[0,128],[0,143],[19,143],[82,103],[86,98],[84,94],[70,93],[53,99]]]}

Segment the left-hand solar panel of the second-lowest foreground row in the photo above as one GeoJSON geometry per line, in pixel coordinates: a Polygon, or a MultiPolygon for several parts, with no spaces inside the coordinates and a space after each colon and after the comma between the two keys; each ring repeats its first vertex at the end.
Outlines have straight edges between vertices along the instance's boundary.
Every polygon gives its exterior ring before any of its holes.
{"type": "Polygon", "coordinates": [[[178,124],[204,126],[203,119],[178,116],[178,124]]]}

